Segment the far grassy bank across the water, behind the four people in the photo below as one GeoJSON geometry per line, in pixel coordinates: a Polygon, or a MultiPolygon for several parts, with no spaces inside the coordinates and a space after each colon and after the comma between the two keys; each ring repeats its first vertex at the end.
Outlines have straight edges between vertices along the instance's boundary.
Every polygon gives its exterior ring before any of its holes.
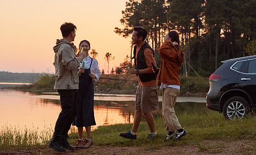
{"type": "MultiPolygon", "coordinates": [[[[43,74],[33,85],[12,87],[12,89],[26,91],[47,91],[53,90],[55,75],[43,74]]],[[[180,76],[180,96],[206,96],[209,90],[208,77],[183,77],[180,76]]],[[[103,74],[99,82],[93,82],[95,93],[103,94],[135,94],[138,86],[136,75],[103,74]]],[[[162,92],[159,90],[158,95],[162,92]]]]}

